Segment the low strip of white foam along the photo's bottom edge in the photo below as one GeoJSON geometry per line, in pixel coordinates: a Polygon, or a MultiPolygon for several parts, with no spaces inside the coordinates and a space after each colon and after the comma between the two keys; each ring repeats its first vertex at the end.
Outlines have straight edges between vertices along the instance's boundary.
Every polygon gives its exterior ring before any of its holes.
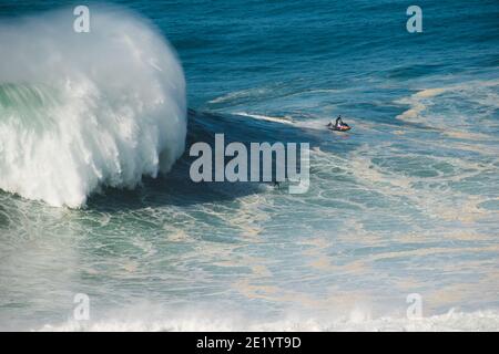
{"type": "Polygon", "coordinates": [[[68,321],[45,324],[42,332],[439,332],[439,331],[499,331],[499,312],[496,310],[448,313],[418,319],[383,316],[370,319],[368,313],[353,311],[348,316],[336,320],[289,316],[273,322],[252,322],[237,319],[216,319],[203,315],[184,315],[169,320],[144,321],[102,320],[95,322],[68,321]]]}

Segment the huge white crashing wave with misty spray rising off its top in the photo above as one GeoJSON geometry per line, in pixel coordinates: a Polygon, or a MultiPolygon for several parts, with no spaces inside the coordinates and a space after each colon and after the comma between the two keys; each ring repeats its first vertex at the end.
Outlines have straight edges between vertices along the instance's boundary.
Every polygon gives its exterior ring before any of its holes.
{"type": "Polygon", "coordinates": [[[186,135],[185,80],[146,21],[92,8],[0,24],[0,189],[82,207],[104,186],[167,173],[186,135]]]}

